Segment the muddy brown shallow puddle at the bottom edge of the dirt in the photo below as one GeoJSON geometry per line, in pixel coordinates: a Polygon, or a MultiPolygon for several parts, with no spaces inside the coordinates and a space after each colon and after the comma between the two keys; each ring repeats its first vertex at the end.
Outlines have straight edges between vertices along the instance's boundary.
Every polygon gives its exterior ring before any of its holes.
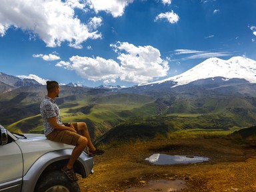
{"type": "Polygon", "coordinates": [[[169,180],[159,180],[159,181],[149,181],[147,186],[144,187],[131,187],[126,189],[127,192],[152,192],[152,191],[161,191],[161,192],[173,192],[180,191],[181,189],[187,188],[185,181],[176,179],[174,181],[169,180]]]}

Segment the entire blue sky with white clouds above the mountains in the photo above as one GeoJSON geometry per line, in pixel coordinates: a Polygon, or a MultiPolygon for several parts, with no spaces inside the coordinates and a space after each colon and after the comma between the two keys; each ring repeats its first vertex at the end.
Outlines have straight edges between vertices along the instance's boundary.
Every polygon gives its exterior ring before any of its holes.
{"type": "Polygon", "coordinates": [[[256,60],[255,0],[4,0],[0,72],[133,86],[210,57],[256,60]]]}

